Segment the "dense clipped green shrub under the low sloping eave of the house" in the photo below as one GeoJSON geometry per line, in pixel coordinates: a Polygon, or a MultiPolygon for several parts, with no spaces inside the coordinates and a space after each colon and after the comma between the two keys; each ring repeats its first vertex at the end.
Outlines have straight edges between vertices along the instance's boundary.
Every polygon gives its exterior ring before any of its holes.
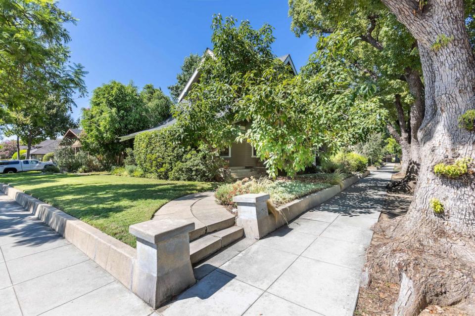
{"type": "Polygon", "coordinates": [[[190,151],[190,148],[180,144],[176,136],[173,126],[137,135],[134,142],[137,166],[145,174],[167,180],[175,164],[190,151]]]}

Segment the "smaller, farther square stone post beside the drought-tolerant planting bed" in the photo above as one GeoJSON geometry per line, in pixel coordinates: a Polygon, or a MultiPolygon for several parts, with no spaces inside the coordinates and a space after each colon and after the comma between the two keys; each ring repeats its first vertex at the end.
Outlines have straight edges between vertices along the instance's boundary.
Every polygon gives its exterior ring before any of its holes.
{"type": "Polygon", "coordinates": [[[272,221],[267,210],[267,193],[244,194],[233,197],[238,204],[238,218],[236,225],[244,229],[244,235],[250,238],[260,239],[275,228],[271,227],[272,221]]]}

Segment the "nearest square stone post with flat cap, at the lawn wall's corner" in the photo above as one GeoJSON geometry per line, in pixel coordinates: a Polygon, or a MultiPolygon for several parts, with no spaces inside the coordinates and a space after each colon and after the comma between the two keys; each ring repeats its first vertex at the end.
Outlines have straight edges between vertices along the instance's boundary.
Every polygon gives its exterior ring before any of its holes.
{"type": "Polygon", "coordinates": [[[152,220],[129,227],[137,237],[132,291],[153,308],[179,294],[195,279],[190,261],[187,220],[152,220]]]}

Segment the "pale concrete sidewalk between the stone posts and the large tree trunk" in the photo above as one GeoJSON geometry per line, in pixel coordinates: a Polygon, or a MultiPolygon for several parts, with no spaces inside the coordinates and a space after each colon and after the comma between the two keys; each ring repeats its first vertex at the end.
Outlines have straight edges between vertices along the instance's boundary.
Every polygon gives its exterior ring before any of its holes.
{"type": "Polygon", "coordinates": [[[162,316],[353,315],[371,226],[392,166],[259,241],[244,238],[195,267],[199,281],[162,316]]]}

